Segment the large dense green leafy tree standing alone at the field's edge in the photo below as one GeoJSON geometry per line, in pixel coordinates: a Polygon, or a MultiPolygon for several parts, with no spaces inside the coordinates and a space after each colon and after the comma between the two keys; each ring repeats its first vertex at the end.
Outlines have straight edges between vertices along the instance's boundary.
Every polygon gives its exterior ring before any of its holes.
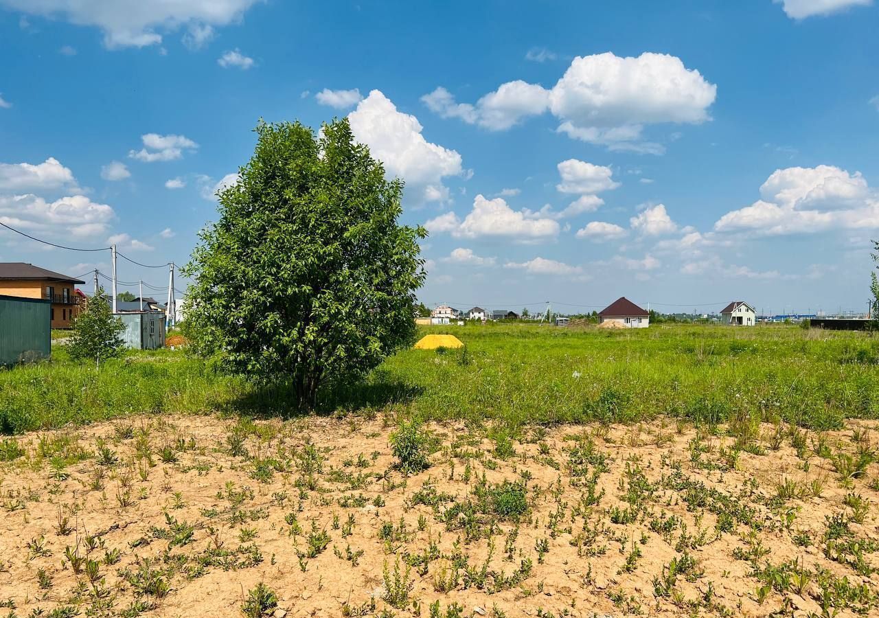
{"type": "Polygon", "coordinates": [[[260,122],[219,221],[185,268],[193,349],[264,381],[288,381],[301,409],[415,337],[424,228],[397,223],[403,183],[387,180],[347,120],[320,135],[260,122]]]}

